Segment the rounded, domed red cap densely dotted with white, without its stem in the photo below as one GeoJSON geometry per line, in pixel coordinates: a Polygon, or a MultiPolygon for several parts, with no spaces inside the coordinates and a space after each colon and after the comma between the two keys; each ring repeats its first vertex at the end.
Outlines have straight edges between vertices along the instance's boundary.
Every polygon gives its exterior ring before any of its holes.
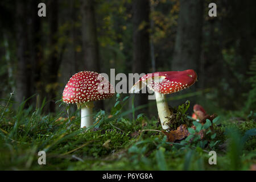
{"type": "Polygon", "coordinates": [[[62,96],[63,102],[79,104],[113,97],[113,86],[108,81],[108,92],[106,93],[100,89],[104,85],[102,81],[104,79],[97,72],[84,71],[76,73],[65,86],[62,96]]]}

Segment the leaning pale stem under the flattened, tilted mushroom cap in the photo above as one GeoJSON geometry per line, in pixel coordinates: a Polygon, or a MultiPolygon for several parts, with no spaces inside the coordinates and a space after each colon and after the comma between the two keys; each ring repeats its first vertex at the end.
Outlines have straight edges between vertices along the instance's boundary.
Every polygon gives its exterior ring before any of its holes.
{"type": "Polygon", "coordinates": [[[155,99],[156,99],[156,106],[158,107],[158,115],[160,118],[162,128],[164,130],[167,130],[169,128],[169,126],[167,125],[168,123],[167,117],[170,117],[171,112],[166,102],[166,96],[162,93],[155,92],[155,99]]]}

